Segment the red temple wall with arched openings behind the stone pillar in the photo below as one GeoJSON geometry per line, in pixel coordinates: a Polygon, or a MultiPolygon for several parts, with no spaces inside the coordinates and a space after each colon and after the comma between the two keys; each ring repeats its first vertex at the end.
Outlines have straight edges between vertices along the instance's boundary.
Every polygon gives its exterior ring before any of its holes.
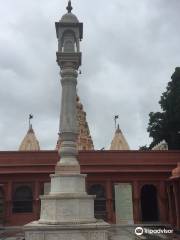
{"type": "MultiPolygon", "coordinates": [[[[113,210],[113,185],[127,182],[132,184],[133,212],[135,223],[141,222],[140,193],[144,184],[157,188],[161,223],[169,223],[167,180],[176,167],[180,151],[82,151],[79,155],[82,173],[87,173],[87,189],[101,184],[106,192],[106,220],[115,223],[113,210]]],[[[3,224],[23,225],[39,218],[43,185],[50,181],[58,154],[55,151],[0,152],[0,187],[4,193],[3,224]],[[33,192],[33,212],[13,213],[12,199],[18,185],[30,185],[33,192]]]]}

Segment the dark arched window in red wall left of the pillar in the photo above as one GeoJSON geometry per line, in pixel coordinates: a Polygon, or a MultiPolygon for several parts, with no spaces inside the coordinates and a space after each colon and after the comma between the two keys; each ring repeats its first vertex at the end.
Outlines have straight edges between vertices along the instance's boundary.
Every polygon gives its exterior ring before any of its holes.
{"type": "Polygon", "coordinates": [[[33,210],[32,190],[28,186],[20,186],[16,188],[13,196],[13,212],[25,213],[33,210]]]}

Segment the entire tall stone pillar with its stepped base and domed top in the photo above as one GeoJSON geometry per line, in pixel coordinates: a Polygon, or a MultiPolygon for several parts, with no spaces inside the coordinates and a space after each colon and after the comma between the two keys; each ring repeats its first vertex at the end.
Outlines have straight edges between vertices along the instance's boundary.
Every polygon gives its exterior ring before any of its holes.
{"type": "Polygon", "coordinates": [[[61,147],[55,174],[51,175],[48,195],[41,196],[37,222],[25,226],[26,240],[107,240],[109,224],[94,217],[94,198],[86,193],[86,175],[77,161],[76,85],[81,65],[79,41],[82,23],[71,13],[56,23],[57,63],[60,66],[62,98],[60,115],[61,147]]]}

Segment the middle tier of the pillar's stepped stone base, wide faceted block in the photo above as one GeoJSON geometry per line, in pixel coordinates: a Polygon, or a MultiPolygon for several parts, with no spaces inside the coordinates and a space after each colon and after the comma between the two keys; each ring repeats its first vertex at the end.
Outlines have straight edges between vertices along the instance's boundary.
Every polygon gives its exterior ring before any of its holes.
{"type": "Polygon", "coordinates": [[[88,195],[58,194],[41,199],[40,222],[94,222],[94,199],[88,195]]]}

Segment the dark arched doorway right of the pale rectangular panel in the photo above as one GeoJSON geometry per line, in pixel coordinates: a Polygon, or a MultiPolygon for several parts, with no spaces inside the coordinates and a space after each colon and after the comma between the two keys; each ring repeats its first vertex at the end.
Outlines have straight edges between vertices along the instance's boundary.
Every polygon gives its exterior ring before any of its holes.
{"type": "Polygon", "coordinates": [[[142,222],[158,222],[159,211],[157,189],[154,185],[144,185],[141,189],[142,222]]]}

